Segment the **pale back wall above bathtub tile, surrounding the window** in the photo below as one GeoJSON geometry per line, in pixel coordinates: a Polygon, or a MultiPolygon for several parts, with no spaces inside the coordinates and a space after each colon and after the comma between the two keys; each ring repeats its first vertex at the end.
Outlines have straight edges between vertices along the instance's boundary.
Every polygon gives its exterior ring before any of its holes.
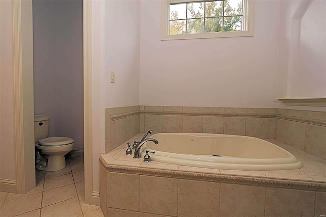
{"type": "Polygon", "coordinates": [[[256,1],[254,37],[160,41],[160,1],[142,1],[140,104],[275,107],[279,15],[256,1]]]}

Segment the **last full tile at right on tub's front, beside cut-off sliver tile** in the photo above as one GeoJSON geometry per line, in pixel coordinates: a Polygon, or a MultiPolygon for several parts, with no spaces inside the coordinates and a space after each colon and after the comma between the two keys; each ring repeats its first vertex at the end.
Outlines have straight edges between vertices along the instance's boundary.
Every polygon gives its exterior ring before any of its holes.
{"type": "Polygon", "coordinates": [[[315,193],[267,187],[266,216],[313,216],[315,193]]]}

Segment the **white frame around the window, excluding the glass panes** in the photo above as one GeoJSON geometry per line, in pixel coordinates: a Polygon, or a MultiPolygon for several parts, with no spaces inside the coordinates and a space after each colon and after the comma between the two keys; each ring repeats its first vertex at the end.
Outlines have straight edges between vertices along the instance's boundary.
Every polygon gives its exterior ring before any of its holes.
{"type": "Polygon", "coordinates": [[[254,36],[255,0],[243,0],[242,31],[170,35],[170,4],[200,1],[201,0],[161,0],[161,41],[254,36]]]}

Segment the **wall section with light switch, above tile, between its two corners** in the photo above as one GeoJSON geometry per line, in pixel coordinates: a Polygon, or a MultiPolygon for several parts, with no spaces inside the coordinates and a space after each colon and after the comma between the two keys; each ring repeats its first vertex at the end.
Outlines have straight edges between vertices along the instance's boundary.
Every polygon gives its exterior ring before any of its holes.
{"type": "Polygon", "coordinates": [[[105,9],[105,106],[139,105],[140,1],[107,1],[105,9]]]}

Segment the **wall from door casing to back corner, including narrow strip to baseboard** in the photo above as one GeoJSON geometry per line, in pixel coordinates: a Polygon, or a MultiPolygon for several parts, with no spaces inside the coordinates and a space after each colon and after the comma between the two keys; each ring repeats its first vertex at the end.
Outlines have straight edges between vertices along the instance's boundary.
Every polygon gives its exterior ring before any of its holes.
{"type": "Polygon", "coordinates": [[[105,108],[139,105],[140,1],[92,2],[93,191],[105,151],[105,108]],[[115,84],[110,71],[115,71],[115,84]]]}

